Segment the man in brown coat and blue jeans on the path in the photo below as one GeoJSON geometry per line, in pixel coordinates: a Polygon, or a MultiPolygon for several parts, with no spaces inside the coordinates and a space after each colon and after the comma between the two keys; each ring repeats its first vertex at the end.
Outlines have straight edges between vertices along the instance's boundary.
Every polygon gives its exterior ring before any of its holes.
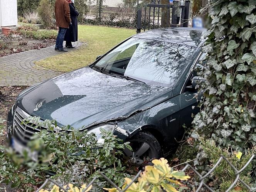
{"type": "Polygon", "coordinates": [[[69,25],[72,25],[70,19],[69,3],[67,0],[56,0],[55,2],[56,25],[59,27],[59,33],[56,39],[55,50],[67,51],[63,48],[64,36],[69,25]]]}

